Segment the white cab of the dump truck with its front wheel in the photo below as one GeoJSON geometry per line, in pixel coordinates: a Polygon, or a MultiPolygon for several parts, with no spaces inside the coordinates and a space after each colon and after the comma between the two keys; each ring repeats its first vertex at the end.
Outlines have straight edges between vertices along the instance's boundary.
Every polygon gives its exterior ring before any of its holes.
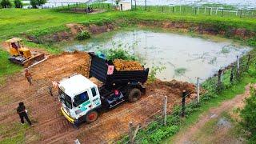
{"type": "Polygon", "coordinates": [[[77,74],[62,79],[58,84],[62,114],[73,123],[94,122],[98,118],[97,109],[101,106],[98,86],[88,78],[77,74]]]}

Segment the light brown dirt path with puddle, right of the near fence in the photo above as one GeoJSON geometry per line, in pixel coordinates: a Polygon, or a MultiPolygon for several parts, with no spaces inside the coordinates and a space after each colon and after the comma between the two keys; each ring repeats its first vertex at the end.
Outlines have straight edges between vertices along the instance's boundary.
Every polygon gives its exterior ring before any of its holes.
{"type": "MultiPolygon", "coordinates": [[[[254,85],[256,87],[256,85],[254,85]]],[[[222,114],[230,114],[231,118],[238,118],[234,112],[244,106],[244,99],[250,96],[250,85],[246,86],[246,92],[239,94],[218,107],[212,108],[199,118],[193,126],[181,131],[171,143],[245,143],[242,138],[236,138],[230,134],[234,127],[229,119],[223,118],[222,114]]]]}

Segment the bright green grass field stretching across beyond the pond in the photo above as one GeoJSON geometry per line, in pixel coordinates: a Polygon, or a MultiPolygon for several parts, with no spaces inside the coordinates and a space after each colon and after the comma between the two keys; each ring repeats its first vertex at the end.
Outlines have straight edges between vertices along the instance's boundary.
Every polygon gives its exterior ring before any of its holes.
{"type": "Polygon", "coordinates": [[[0,40],[18,36],[20,34],[51,34],[65,30],[65,24],[71,22],[90,23],[104,20],[115,21],[118,18],[156,21],[184,21],[196,23],[218,24],[256,31],[255,18],[218,17],[202,15],[166,14],[158,12],[136,11],[109,11],[102,14],[72,14],[61,13],[58,10],[0,10],[0,40]]]}

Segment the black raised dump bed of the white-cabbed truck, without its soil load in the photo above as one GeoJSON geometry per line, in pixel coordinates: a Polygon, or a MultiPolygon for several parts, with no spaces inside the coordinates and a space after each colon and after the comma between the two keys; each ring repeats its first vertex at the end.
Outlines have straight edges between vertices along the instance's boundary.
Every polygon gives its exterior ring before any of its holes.
{"type": "Polygon", "coordinates": [[[107,89],[111,89],[113,86],[123,86],[127,83],[142,84],[146,82],[149,69],[144,70],[122,70],[118,71],[114,69],[113,74],[107,74],[108,67],[113,66],[112,62],[108,62],[103,58],[99,58],[94,53],[89,53],[91,57],[90,65],[90,78],[94,77],[104,83],[107,89]]]}

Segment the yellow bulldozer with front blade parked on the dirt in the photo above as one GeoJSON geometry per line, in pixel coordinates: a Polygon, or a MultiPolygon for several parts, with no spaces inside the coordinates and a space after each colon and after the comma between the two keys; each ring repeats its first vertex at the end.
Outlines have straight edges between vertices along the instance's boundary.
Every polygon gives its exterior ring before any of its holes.
{"type": "Polygon", "coordinates": [[[11,38],[6,43],[10,50],[10,62],[29,67],[46,59],[45,54],[36,51],[31,52],[30,49],[24,47],[21,38],[11,38]]]}

